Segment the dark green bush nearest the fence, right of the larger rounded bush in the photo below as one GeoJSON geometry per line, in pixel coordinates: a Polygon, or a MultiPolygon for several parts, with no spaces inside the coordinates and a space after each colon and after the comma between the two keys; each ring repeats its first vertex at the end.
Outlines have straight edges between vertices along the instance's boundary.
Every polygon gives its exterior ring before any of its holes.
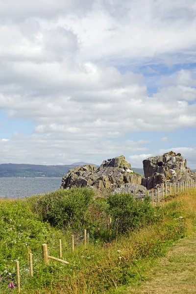
{"type": "Polygon", "coordinates": [[[135,200],[131,194],[120,193],[110,195],[107,202],[114,235],[139,228],[155,219],[150,197],[135,200]]]}

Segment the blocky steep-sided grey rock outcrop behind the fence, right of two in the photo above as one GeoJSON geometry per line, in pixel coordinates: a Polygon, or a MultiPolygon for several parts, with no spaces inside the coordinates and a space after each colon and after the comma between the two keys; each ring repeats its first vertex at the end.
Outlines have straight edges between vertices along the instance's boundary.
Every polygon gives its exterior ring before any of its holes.
{"type": "Polygon", "coordinates": [[[142,185],[147,189],[155,188],[160,183],[170,181],[196,181],[196,173],[187,168],[187,161],[180,153],[168,152],[153,156],[143,161],[145,178],[142,185]]]}

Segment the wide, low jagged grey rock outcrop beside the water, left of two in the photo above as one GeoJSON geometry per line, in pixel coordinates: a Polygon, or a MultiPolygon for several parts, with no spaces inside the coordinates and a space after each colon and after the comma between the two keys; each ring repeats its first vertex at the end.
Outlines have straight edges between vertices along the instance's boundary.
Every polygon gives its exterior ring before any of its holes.
{"type": "Polygon", "coordinates": [[[105,195],[124,184],[141,185],[142,177],[132,171],[131,165],[122,155],[103,161],[99,168],[88,164],[71,169],[62,178],[61,187],[67,189],[87,186],[96,189],[98,194],[105,195]]]}

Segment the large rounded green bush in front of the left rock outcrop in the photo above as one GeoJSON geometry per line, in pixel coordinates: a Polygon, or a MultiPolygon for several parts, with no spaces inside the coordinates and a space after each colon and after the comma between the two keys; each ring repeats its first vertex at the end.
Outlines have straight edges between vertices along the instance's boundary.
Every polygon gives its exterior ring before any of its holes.
{"type": "Polygon", "coordinates": [[[94,196],[94,191],[88,188],[61,189],[35,197],[32,205],[43,221],[49,221],[51,225],[61,229],[80,230],[88,226],[89,206],[94,196]]]}

